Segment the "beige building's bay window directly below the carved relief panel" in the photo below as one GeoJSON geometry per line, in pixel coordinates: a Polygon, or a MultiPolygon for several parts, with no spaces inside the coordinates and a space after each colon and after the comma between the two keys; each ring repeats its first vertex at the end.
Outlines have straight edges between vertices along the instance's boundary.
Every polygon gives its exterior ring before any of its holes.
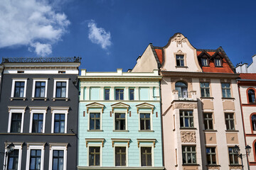
{"type": "Polygon", "coordinates": [[[182,162],[183,164],[196,164],[195,146],[182,146],[182,162]]]}

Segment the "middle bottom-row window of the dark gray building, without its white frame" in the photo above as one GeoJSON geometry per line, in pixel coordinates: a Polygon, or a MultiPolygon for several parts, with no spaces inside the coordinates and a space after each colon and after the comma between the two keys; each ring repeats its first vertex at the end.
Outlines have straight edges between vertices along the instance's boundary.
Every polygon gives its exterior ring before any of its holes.
{"type": "Polygon", "coordinates": [[[31,149],[29,170],[41,169],[41,149],[31,149]]]}

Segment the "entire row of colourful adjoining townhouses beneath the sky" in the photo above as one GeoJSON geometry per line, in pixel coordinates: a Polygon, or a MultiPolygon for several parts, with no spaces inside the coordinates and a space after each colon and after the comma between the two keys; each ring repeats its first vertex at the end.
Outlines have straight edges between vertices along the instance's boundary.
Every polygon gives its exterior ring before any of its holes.
{"type": "Polygon", "coordinates": [[[3,58],[0,169],[256,169],[256,74],[222,47],[176,33],[128,72],[79,66],[3,58]]]}

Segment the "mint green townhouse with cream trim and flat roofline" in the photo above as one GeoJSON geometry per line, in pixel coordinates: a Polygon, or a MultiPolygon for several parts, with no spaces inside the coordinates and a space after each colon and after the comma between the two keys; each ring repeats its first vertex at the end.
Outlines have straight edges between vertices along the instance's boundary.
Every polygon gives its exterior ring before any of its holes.
{"type": "Polygon", "coordinates": [[[81,70],[78,169],[164,169],[158,70],[81,70]]]}

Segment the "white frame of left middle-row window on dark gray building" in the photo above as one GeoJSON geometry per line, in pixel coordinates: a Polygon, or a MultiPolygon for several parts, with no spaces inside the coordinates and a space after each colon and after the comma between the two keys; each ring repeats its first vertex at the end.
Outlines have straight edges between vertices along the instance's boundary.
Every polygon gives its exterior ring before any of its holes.
{"type": "Polygon", "coordinates": [[[24,113],[26,110],[26,106],[24,107],[11,107],[9,106],[9,123],[8,123],[8,130],[7,132],[11,132],[11,117],[12,117],[12,113],[21,113],[21,133],[23,132],[23,122],[24,122],[24,113]]]}

